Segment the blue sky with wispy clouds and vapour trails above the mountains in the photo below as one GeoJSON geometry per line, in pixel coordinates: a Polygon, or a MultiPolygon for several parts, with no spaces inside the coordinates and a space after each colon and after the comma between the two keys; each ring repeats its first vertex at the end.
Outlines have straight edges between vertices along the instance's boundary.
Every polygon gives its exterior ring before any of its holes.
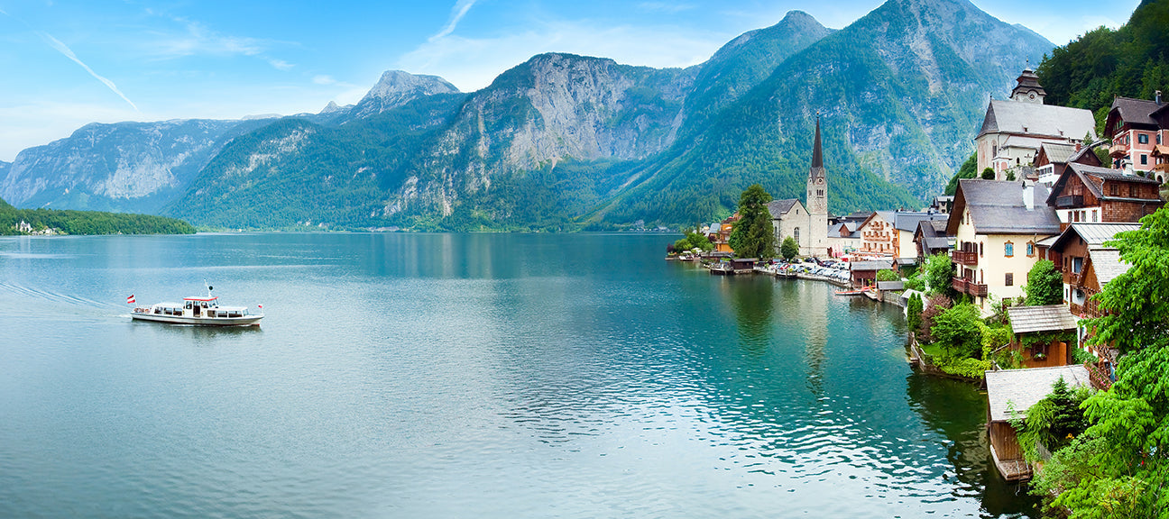
{"type": "MultiPolygon", "coordinates": [[[[1063,44],[1139,0],[974,0],[1063,44]]],[[[90,123],[354,103],[382,71],[487,85],[533,54],[686,67],[791,9],[842,28],[881,0],[0,0],[0,160],[90,123]]]]}

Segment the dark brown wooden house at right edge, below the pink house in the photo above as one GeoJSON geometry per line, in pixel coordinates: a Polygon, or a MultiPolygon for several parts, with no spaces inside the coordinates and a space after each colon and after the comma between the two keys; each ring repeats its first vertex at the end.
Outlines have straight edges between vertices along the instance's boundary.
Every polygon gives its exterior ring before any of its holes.
{"type": "Polygon", "coordinates": [[[1080,222],[1136,222],[1155,213],[1164,201],[1156,180],[1070,162],[1051,186],[1046,203],[1056,208],[1063,227],[1067,227],[1080,222]]]}

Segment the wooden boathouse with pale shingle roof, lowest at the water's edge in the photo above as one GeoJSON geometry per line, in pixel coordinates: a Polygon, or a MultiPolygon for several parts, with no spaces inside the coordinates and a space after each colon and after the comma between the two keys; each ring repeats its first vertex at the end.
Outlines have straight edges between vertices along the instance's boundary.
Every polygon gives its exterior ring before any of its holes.
{"type": "Polygon", "coordinates": [[[990,456],[1003,479],[1009,482],[1031,478],[1031,466],[1023,456],[1011,418],[1025,417],[1026,410],[1051,394],[1051,386],[1059,378],[1067,387],[1090,387],[1084,366],[1059,366],[1031,369],[987,372],[987,437],[990,456]],[[1012,416],[1011,409],[1015,410],[1012,416]]]}

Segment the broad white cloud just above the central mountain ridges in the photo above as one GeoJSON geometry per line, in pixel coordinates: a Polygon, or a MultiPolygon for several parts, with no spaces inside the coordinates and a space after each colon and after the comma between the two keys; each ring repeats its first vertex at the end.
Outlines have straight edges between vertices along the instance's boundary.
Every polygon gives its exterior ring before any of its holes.
{"type": "Polygon", "coordinates": [[[473,91],[535,54],[570,53],[610,57],[624,64],[689,67],[710,58],[733,36],[677,27],[554,21],[496,37],[431,40],[401,56],[395,68],[442,76],[459,90],[473,91]]]}

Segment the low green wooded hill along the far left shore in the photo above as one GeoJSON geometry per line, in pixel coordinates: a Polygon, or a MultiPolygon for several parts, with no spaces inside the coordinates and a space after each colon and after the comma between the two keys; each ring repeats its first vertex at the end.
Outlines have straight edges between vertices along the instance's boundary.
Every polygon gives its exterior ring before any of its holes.
{"type": "Polygon", "coordinates": [[[25,235],[54,229],[53,234],[194,234],[182,220],[144,214],[96,210],[16,209],[0,200],[0,235],[25,235]],[[28,223],[32,233],[20,230],[28,223]]]}

